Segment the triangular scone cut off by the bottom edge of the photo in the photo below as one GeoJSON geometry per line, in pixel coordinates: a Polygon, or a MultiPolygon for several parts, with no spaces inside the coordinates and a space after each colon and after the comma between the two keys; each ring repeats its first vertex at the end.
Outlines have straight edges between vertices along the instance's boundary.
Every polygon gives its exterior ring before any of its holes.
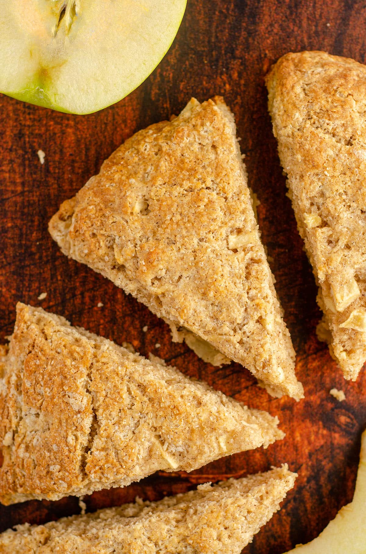
{"type": "Polygon", "coordinates": [[[240,554],[279,510],[295,478],[283,466],[160,502],[18,525],[0,535],[0,554],[240,554]]]}

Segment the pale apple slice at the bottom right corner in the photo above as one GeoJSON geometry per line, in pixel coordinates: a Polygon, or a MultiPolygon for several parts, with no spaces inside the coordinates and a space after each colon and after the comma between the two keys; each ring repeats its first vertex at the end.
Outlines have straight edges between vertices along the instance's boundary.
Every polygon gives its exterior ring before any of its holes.
{"type": "MultiPolygon", "coordinates": [[[[362,435],[356,488],[351,504],[343,506],[321,534],[295,554],[366,554],[366,431],[362,435]]],[[[287,552],[286,554],[290,554],[287,552]]]]}

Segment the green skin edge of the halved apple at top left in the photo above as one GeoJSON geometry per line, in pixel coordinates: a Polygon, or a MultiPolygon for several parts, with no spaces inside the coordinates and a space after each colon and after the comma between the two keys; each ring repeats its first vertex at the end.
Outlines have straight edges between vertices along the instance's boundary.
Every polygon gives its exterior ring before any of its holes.
{"type": "MultiPolygon", "coordinates": [[[[160,55],[156,59],[156,63],[153,66],[150,66],[147,72],[142,72],[142,78],[140,80],[137,80],[133,86],[129,87],[128,91],[125,91],[121,95],[114,95],[112,98],[108,98],[108,100],[104,103],[104,101],[101,99],[97,102],[96,106],[88,106],[86,109],[67,109],[66,106],[59,105],[59,102],[56,100],[57,95],[51,95],[47,91],[50,89],[50,84],[52,83],[52,77],[48,74],[48,70],[46,68],[40,68],[37,72],[37,74],[34,76],[33,82],[27,86],[27,88],[23,88],[20,91],[5,91],[0,90],[0,93],[10,96],[11,98],[14,98],[15,100],[20,100],[22,102],[27,102],[28,104],[34,104],[36,106],[46,107],[55,111],[60,111],[64,114],[75,114],[75,115],[87,115],[92,114],[96,111],[102,110],[108,106],[111,106],[118,102],[119,100],[122,100],[123,98],[126,98],[128,94],[132,93],[133,90],[137,89],[140,84],[142,84],[148,76],[153,73],[155,68],[159,65],[160,61],[164,58],[166,53],[171,47],[171,44],[174,42],[174,39],[176,37],[176,34],[179,30],[180,24],[182,22],[182,19],[184,17],[185,9],[187,0],[178,0],[180,1],[180,8],[181,11],[179,13],[179,16],[176,20],[176,30],[175,33],[171,35],[171,41],[170,43],[167,43],[165,52],[160,55]],[[54,98],[52,98],[54,96],[54,98]]],[[[121,87],[122,88],[122,87],[121,87]]]]}

